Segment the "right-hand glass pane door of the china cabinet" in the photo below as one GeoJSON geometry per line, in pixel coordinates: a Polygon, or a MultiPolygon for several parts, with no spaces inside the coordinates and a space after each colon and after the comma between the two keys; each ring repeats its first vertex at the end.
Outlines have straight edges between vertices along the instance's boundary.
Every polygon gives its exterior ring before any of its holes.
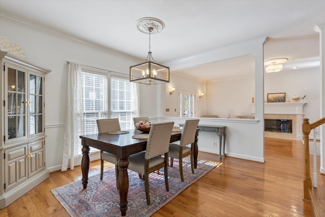
{"type": "Polygon", "coordinates": [[[29,75],[29,135],[42,133],[42,77],[29,75]]]}

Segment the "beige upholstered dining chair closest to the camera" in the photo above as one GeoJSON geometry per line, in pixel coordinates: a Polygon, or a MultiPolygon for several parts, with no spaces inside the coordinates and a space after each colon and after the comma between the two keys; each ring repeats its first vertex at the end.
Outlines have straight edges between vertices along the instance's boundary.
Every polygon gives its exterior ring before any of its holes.
{"type": "Polygon", "coordinates": [[[147,204],[150,205],[149,173],[164,167],[166,191],[168,184],[168,149],[174,121],[153,123],[148,136],[146,150],[128,157],[128,169],[144,176],[147,204]]]}

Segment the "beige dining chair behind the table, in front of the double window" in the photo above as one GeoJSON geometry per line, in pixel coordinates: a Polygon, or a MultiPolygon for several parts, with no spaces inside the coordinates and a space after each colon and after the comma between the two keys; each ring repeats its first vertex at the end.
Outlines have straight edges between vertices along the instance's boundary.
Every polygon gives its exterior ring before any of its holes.
{"type": "MultiPolygon", "coordinates": [[[[110,119],[98,119],[97,122],[97,128],[98,133],[107,133],[110,131],[120,131],[120,122],[118,118],[110,118],[110,119]]],[[[112,164],[115,164],[115,176],[116,176],[116,188],[118,189],[118,160],[119,158],[116,156],[116,154],[109,153],[106,151],[101,150],[101,180],[103,180],[103,174],[104,174],[104,160],[108,161],[112,164]]]]}

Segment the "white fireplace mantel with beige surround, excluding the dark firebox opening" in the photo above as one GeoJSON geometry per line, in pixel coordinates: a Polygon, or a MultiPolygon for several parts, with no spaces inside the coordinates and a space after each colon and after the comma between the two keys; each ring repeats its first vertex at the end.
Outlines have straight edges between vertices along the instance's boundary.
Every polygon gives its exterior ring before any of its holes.
{"type": "MultiPolygon", "coordinates": [[[[302,120],[304,117],[304,105],[307,102],[293,103],[264,103],[264,116],[271,119],[285,118],[293,119],[293,134],[283,135],[281,133],[265,132],[266,137],[283,139],[302,139],[302,120]],[[288,117],[288,116],[291,116],[288,117]],[[294,125],[295,123],[295,125],[294,125]]],[[[255,114],[255,104],[253,104],[253,114],[255,114]]]]}

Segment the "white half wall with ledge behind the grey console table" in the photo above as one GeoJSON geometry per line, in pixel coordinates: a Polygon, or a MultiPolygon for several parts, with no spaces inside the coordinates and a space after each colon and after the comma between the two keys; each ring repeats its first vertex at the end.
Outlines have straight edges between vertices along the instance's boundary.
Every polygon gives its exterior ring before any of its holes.
{"type": "MultiPolygon", "coordinates": [[[[183,117],[158,117],[157,122],[174,121],[174,126],[184,123],[183,117]]],[[[264,146],[254,132],[258,132],[259,120],[236,118],[200,118],[199,125],[225,126],[225,153],[227,156],[264,163],[264,146]],[[253,133],[252,133],[253,132],[253,133]]],[[[219,137],[214,132],[199,131],[199,151],[219,154],[219,137]],[[216,147],[213,143],[216,143],[216,147]]],[[[223,153],[223,150],[222,150],[223,153]]],[[[219,161],[216,157],[215,161],[219,161]]]]}

